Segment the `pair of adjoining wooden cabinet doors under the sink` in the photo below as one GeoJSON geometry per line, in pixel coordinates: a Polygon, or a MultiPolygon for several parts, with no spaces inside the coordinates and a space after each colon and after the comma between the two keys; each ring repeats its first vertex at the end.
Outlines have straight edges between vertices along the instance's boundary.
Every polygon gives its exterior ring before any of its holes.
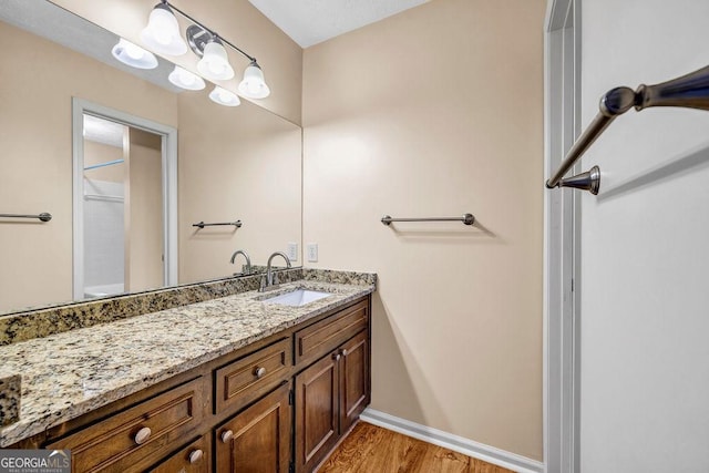
{"type": "Polygon", "coordinates": [[[360,331],[298,373],[295,398],[296,472],[310,472],[369,404],[368,331],[360,331]]]}

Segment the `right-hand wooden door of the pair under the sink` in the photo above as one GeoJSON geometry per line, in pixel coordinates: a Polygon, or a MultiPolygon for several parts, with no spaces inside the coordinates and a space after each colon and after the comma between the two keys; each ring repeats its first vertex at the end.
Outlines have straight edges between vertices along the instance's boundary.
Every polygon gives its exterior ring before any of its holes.
{"type": "Polygon", "coordinates": [[[361,331],[340,348],[340,433],[357,421],[369,404],[369,346],[361,331]]]}

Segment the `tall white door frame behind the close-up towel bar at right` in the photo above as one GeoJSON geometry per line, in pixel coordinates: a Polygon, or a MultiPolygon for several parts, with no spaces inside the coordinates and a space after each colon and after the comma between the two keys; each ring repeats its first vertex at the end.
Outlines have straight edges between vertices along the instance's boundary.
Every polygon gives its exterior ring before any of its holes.
{"type": "MultiPolygon", "coordinates": [[[[580,128],[580,1],[547,0],[545,178],[557,168],[580,128]]],[[[543,410],[548,473],[580,471],[579,205],[572,189],[545,189],[543,410]]]]}

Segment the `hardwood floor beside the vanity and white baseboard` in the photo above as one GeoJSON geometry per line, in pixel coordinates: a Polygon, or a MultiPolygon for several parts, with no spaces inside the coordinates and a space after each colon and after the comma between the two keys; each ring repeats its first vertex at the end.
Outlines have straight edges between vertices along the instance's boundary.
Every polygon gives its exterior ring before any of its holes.
{"type": "Polygon", "coordinates": [[[359,422],[318,470],[318,473],[372,472],[512,473],[367,422],[359,422]]]}

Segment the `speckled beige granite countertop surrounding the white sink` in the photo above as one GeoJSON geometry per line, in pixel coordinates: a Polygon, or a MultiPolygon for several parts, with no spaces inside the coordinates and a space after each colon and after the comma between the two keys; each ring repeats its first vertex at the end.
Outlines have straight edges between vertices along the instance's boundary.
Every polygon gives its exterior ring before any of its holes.
{"type": "Polygon", "coordinates": [[[373,285],[298,280],[332,296],[301,307],[248,291],[0,347],[0,376],[22,376],[20,420],[0,429],[8,446],[256,340],[366,296],[373,285]]]}

